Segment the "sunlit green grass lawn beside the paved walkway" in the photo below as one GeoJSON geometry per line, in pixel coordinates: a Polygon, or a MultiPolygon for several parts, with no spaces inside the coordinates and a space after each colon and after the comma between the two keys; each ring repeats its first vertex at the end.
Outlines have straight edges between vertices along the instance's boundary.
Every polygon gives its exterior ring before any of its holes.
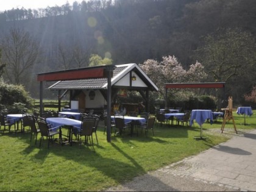
{"type": "MultiPolygon", "coordinates": [[[[233,115],[238,133],[256,128],[255,111],[246,117],[248,126],[243,125],[244,116],[233,115]]],[[[95,151],[77,143],[54,143],[48,149],[46,140],[39,148],[39,141],[36,146],[34,140],[30,143],[30,132],[3,133],[1,127],[0,191],[104,190],[229,140],[235,135],[232,121],[226,124],[224,133],[221,122],[203,124],[203,135],[208,136],[205,141],[193,138],[200,134],[197,123],[192,127],[155,125],[154,137],[152,132],[148,137],[144,133],[138,137],[112,134],[111,143],[101,126],[99,145],[94,137],[95,151]]]]}

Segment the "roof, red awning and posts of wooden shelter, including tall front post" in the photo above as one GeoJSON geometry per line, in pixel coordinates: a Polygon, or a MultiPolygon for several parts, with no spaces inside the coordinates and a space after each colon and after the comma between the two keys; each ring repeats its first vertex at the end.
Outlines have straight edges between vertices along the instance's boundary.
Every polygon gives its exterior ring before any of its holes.
{"type": "Polygon", "coordinates": [[[149,91],[158,91],[156,85],[136,64],[129,63],[123,65],[102,65],[87,68],[76,68],[49,73],[37,74],[40,82],[40,114],[43,112],[43,82],[58,81],[50,90],[59,90],[59,110],[60,100],[66,91],[82,89],[98,89],[107,101],[107,141],[110,142],[110,122],[111,122],[111,101],[112,91],[116,93],[118,88],[127,90],[137,90],[149,105],[149,91]],[[60,91],[64,90],[61,95],[60,91]]]}

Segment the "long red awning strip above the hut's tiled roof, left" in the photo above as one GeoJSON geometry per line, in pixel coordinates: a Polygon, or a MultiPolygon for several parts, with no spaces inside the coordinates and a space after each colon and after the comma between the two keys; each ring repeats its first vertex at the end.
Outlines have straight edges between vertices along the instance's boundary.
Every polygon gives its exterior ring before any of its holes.
{"type": "Polygon", "coordinates": [[[77,71],[59,71],[48,74],[38,74],[38,81],[74,80],[104,77],[104,68],[82,69],[77,71]]]}

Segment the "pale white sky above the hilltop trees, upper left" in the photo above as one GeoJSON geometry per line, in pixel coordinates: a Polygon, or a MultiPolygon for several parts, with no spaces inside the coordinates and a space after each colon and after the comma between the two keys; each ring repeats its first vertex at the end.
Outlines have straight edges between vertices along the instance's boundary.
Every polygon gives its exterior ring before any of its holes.
{"type": "Polygon", "coordinates": [[[10,10],[12,8],[21,9],[24,7],[25,9],[39,9],[49,7],[53,7],[55,5],[64,5],[66,2],[69,2],[70,5],[73,4],[74,1],[82,2],[82,0],[0,0],[0,12],[4,10],[10,10]]]}

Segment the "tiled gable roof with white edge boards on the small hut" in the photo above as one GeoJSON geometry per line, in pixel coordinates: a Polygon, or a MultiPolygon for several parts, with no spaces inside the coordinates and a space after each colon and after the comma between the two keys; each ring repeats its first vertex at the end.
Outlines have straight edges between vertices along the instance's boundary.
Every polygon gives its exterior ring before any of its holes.
{"type": "MultiPolygon", "coordinates": [[[[157,86],[144,73],[144,71],[136,64],[129,63],[123,65],[115,65],[113,67],[113,77],[111,79],[112,86],[115,85],[124,76],[131,71],[135,72],[144,84],[152,91],[158,91],[157,86]]],[[[107,78],[96,79],[77,79],[77,80],[60,80],[48,88],[49,90],[76,90],[76,89],[107,89],[107,78]]]]}

